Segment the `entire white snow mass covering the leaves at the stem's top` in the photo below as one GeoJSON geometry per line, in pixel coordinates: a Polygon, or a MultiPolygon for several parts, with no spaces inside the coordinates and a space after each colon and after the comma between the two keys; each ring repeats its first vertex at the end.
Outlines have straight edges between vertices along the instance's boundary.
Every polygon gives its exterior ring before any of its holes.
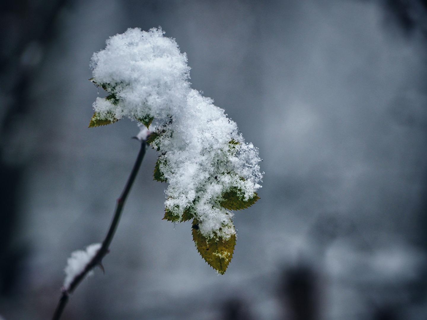
{"type": "Polygon", "coordinates": [[[187,56],[163,34],[128,29],[94,54],[93,81],[111,93],[97,98],[95,113],[99,119],[152,120],[155,139],[149,142],[160,154],[156,170],[169,183],[167,212],[175,221],[190,213],[203,235],[229,239],[236,233],[233,213],[221,202],[231,191],[241,201],[255,197],[262,179],[258,149],[245,143],[212,99],[190,88],[187,56]]]}

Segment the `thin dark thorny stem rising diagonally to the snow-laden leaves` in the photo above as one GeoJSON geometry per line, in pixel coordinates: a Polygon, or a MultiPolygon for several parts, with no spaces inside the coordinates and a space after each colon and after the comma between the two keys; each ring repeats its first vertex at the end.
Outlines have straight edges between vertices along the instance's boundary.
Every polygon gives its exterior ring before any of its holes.
{"type": "Polygon", "coordinates": [[[91,271],[97,265],[99,265],[102,268],[102,270],[104,270],[104,268],[102,267],[102,259],[109,252],[108,248],[110,247],[111,240],[113,240],[114,233],[116,232],[117,225],[119,224],[120,215],[125,205],[126,198],[129,194],[130,189],[132,188],[132,184],[134,183],[135,177],[141,166],[141,163],[145,154],[145,149],[146,149],[146,142],[145,140],[142,140],[141,148],[135,160],[135,164],[133,166],[132,172],[129,175],[128,181],[126,182],[126,185],[125,185],[125,188],[123,189],[122,194],[117,199],[113,220],[111,221],[110,229],[108,230],[108,233],[105,236],[104,241],[102,241],[102,246],[101,248],[99,248],[97,254],[92,258],[92,260],[88,262],[88,264],[85,266],[85,269],[81,273],[79,273],[77,276],[75,276],[75,278],[69,285],[68,289],[64,288],[62,290],[62,295],[61,295],[61,298],[59,299],[59,303],[58,303],[58,306],[56,307],[55,313],[53,314],[52,320],[59,320],[59,318],[61,317],[62,311],[64,311],[65,305],[67,305],[70,294],[73,293],[73,291],[80,284],[80,282],[82,282],[82,280],[85,278],[86,274],[88,274],[89,271],[91,271]]]}

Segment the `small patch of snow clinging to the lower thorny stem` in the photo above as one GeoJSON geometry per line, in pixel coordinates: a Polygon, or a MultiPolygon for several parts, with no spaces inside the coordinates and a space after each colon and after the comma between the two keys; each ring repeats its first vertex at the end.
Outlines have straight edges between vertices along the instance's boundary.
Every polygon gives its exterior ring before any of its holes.
{"type": "MultiPolygon", "coordinates": [[[[65,280],[64,288],[68,290],[74,278],[85,270],[86,265],[97,254],[100,243],[94,243],[86,247],[86,250],[76,250],[71,253],[71,257],[67,259],[67,266],[65,267],[65,280]]],[[[90,274],[88,274],[90,275],[90,274]]]]}

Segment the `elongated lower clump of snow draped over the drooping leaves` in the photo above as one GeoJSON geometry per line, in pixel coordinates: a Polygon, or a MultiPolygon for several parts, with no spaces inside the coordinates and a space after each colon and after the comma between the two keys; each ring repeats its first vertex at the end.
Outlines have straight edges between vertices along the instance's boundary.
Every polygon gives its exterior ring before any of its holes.
{"type": "Polygon", "coordinates": [[[233,186],[242,190],[245,200],[260,188],[257,149],[244,143],[224,110],[196,90],[188,94],[184,112],[163,130],[154,145],[160,148],[160,169],[169,183],[165,207],[179,216],[194,207],[202,234],[212,237],[215,232],[228,239],[236,233],[233,213],[218,201],[233,186]]]}

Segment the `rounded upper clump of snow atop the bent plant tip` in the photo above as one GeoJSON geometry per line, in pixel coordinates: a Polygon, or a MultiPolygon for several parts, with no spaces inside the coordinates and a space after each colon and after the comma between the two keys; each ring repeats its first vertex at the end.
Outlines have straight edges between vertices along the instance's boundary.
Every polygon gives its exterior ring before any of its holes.
{"type": "Polygon", "coordinates": [[[93,79],[114,88],[118,103],[97,98],[94,109],[112,120],[123,116],[157,118],[175,113],[185,105],[190,90],[187,55],[181,54],[175,40],[163,36],[161,29],[148,32],[128,29],[110,37],[107,47],[91,59],[93,79]]]}

